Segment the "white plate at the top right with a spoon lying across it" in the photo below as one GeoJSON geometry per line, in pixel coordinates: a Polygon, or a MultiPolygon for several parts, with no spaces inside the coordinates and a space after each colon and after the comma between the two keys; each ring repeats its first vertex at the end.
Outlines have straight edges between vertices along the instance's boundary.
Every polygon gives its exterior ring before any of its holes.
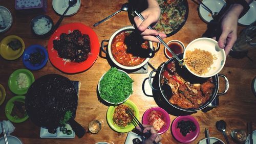
{"type": "MultiPolygon", "coordinates": [[[[225,5],[224,0],[203,0],[202,3],[207,6],[212,12],[220,12],[222,7],[225,5]]],[[[199,5],[199,16],[205,21],[210,22],[212,20],[211,13],[208,12],[203,5],[199,5]]]]}

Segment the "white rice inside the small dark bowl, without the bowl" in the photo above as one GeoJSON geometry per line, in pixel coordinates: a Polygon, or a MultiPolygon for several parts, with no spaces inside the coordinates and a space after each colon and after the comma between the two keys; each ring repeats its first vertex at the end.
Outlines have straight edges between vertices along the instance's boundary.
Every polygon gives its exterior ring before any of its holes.
{"type": "Polygon", "coordinates": [[[33,30],[37,35],[43,35],[49,32],[51,28],[52,23],[46,17],[42,17],[34,23],[33,30]]]}

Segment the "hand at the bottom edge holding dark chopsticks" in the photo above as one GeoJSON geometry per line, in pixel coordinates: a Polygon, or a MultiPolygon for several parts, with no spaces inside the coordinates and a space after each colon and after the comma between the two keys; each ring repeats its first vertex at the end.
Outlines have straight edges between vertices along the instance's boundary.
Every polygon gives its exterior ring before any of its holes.
{"type": "MultiPolygon", "coordinates": [[[[143,125],[143,124],[142,124],[143,125]]],[[[151,136],[148,137],[143,144],[152,144],[154,141],[156,143],[158,143],[162,137],[157,133],[157,131],[154,129],[154,127],[152,126],[148,126],[148,125],[143,125],[144,130],[142,131],[143,133],[146,133],[147,131],[151,132],[151,136]]],[[[141,128],[139,126],[136,126],[136,129],[141,131],[141,128]]]]}

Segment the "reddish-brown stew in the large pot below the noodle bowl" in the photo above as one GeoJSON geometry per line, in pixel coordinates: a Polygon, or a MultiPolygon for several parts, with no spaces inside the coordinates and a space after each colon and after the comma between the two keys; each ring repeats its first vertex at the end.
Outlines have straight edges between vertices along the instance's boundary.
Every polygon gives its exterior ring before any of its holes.
{"type": "Polygon", "coordinates": [[[175,61],[169,62],[161,74],[161,85],[167,84],[172,88],[173,95],[168,101],[184,109],[199,108],[210,99],[215,88],[212,77],[194,83],[181,77],[175,65],[175,61]]]}

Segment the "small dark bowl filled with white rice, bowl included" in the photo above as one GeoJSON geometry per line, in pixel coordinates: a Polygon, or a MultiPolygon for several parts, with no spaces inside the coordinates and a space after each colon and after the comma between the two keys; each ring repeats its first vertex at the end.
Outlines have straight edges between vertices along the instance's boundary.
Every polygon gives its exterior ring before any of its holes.
{"type": "Polygon", "coordinates": [[[31,30],[34,35],[40,37],[48,37],[53,28],[53,20],[51,17],[41,14],[31,20],[31,30]]]}

